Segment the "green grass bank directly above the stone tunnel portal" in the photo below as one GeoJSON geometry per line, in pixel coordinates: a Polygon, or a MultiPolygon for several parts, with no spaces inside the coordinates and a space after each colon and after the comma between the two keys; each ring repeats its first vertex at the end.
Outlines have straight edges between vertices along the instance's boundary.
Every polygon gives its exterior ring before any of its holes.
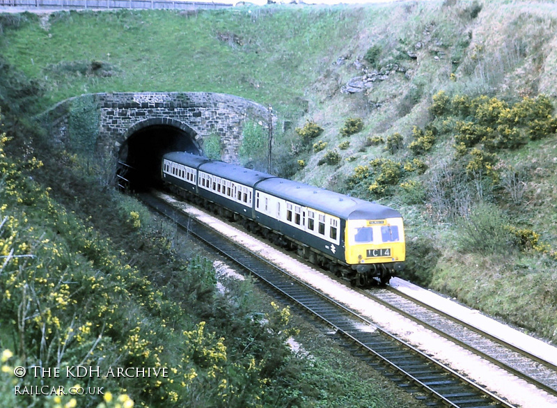
{"type": "Polygon", "coordinates": [[[40,81],[43,109],[83,93],[203,91],[297,116],[322,65],[352,36],[356,14],[277,7],[3,15],[2,55],[40,81]]]}

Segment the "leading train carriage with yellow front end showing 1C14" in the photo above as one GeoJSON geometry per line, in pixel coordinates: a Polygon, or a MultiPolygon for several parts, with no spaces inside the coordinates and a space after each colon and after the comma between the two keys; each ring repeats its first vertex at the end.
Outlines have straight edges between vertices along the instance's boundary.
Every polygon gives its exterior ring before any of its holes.
{"type": "Polygon", "coordinates": [[[360,275],[386,280],[404,266],[402,217],[384,205],[273,178],[256,185],[256,219],[360,275]]]}

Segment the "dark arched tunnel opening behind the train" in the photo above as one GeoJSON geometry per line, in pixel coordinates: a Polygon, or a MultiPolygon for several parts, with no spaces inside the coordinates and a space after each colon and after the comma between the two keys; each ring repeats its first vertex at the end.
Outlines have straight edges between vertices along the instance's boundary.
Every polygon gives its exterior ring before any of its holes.
{"type": "Polygon", "coordinates": [[[118,152],[116,181],[122,189],[141,191],[161,182],[162,156],[168,152],[200,155],[193,131],[172,125],[150,125],[134,132],[118,152]]]}

